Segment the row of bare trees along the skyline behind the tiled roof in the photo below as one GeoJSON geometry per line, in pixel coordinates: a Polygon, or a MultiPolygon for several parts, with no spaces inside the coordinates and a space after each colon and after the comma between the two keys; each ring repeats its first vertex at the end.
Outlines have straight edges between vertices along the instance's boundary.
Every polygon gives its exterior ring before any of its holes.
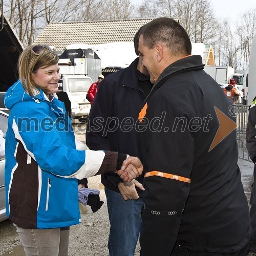
{"type": "Polygon", "coordinates": [[[214,46],[219,65],[243,69],[256,31],[255,9],[230,26],[228,20],[217,21],[210,0],[145,0],[137,9],[129,0],[6,0],[4,10],[24,45],[50,23],[176,17],[192,42],[214,46]]]}

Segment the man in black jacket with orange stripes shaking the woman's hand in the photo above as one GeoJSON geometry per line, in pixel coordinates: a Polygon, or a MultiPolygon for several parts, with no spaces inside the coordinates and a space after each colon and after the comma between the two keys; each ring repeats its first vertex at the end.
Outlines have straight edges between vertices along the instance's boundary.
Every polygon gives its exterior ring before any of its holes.
{"type": "Polygon", "coordinates": [[[141,255],[245,255],[250,217],[231,102],[201,56],[190,56],[190,39],[174,19],[144,25],[138,48],[156,81],[139,115],[149,124],[141,133],[141,255]]]}

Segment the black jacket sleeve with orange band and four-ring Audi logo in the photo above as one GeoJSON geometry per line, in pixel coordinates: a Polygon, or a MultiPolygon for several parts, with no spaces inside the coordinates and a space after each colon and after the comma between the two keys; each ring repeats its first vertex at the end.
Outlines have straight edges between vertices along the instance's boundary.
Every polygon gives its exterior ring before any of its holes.
{"type": "Polygon", "coordinates": [[[146,110],[148,123],[159,118],[160,124],[149,125],[142,134],[146,147],[143,165],[147,167],[140,234],[142,256],[171,254],[190,190],[194,138],[183,122],[186,110],[176,111],[178,106],[171,104],[167,96],[160,101],[154,98],[146,110]]]}

